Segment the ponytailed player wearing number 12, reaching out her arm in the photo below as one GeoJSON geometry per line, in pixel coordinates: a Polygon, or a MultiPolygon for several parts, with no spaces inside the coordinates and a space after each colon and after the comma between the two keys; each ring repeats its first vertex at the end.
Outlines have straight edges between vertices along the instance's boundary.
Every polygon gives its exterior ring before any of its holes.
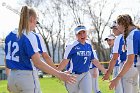
{"type": "Polygon", "coordinates": [[[8,76],[11,93],[41,93],[36,67],[68,83],[75,82],[74,76],[57,71],[40,60],[37,38],[32,33],[36,18],[32,8],[23,6],[18,31],[10,32],[5,39],[6,67],[11,69],[8,76]]]}

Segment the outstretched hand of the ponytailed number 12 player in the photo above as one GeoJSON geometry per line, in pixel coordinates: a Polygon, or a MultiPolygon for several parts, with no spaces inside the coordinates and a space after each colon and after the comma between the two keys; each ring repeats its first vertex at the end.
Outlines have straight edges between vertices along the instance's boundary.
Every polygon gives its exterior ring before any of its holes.
{"type": "Polygon", "coordinates": [[[65,72],[59,72],[59,79],[63,80],[66,83],[73,84],[76,82],[76,76],[72,74],[67,74],[65,72]]]}

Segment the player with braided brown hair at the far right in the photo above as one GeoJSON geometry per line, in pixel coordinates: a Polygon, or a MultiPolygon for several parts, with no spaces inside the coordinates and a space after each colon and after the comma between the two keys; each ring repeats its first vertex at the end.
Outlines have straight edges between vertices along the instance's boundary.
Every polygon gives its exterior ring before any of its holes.
{"type": "Polygon", "coordinates": [[[131,17],[127,14],[119,15],[117,18],[117,24],[118,30],[124,33],[124,39],[126,41],[127,59],[118,76],[111,81],[109,88],[113,89],[114,87],[116,87],[118,81],[122,78],[123,81],[125,81],[123,83],[125,83],[125,85],[129,85],[124,88],[124,93],[138,93],[138,84],[136,80],[138,76],[138,70],[135,68],[134,62],[135,56],[139,55],[140,52],[140,31],[133,24],[131,17]]]}

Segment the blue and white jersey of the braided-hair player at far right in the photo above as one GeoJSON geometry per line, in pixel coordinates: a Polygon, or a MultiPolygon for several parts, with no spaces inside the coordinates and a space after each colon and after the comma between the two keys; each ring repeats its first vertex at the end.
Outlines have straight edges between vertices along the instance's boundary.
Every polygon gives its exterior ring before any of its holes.
{"type": "Polygon", "coordinates": [[[137,63],[137,57],[140,57],[140,30],[132,30],[127,37],[127,55],[135,54],[134,63],[137,63]]]}

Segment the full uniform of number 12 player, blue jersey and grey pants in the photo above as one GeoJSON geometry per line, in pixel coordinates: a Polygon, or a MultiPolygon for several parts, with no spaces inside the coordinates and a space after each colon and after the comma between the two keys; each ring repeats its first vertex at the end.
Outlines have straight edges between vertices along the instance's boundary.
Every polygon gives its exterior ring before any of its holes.
{"type": "Polygon", "coordinates": [[[13,93],[41,93],[36,67],[31,57],[39,52],[36,36],[29,32],[17,36],[17,29],[5,39],[6,66],[11,69],[8,77],[13,93]],[[27,83],[28,82],[28,83],[27,83]]]}

